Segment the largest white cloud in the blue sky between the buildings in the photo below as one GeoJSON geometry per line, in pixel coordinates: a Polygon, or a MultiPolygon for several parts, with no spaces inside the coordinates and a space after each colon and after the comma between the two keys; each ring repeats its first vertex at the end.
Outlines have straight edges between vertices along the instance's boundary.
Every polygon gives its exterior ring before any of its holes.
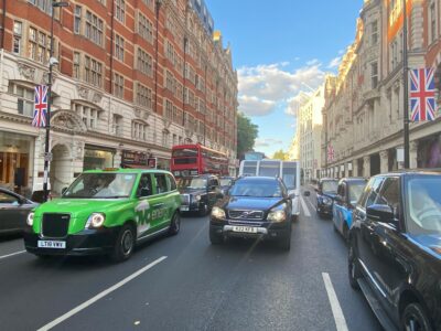
{"type": "Polygon", "coordinates": [[[304,84],[315,88],[323,83],[324,72],[318,60],[292,72],[286,70],[288,65],[282,62],[239,68],[239,109],[249,116],[266,116],[286,106],[304,84]]]}

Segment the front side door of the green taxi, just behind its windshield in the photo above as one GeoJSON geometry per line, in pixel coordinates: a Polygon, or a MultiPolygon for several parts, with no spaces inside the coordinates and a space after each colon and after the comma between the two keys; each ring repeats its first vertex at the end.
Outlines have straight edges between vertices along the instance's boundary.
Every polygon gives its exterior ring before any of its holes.
{"type": "Polygon", "coordinates": [[[161,199],[157,194],[151,173],[142,173],[137,188],[138,203],[136,205],[136,217],[138,223],[137,237],[144,237],[160,229],[160,220],[155,205],[161,199]]]}

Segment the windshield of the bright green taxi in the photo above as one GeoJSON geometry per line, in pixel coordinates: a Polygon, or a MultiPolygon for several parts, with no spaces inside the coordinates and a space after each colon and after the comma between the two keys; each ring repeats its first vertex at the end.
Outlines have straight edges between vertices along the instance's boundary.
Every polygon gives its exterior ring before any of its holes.
{"type": "Polygon", "coordinates": [[[118,199],[129,197],[136,173],[83,173],[64,192],[64,199],[118,199]]]}

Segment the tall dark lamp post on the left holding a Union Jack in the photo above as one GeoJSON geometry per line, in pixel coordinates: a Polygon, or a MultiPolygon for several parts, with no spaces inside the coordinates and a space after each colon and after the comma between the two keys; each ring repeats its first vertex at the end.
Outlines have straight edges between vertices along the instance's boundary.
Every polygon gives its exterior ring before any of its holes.
{"type": "Polygon", "coordinates": [[[49,197],[47,182],[49,182],[49,162],[50,156],[50,136],[51,136],[51,104],[52,104],[52,68],[58,64],[58,60],[53,57],[54,54],[54,10],[55,8],[68,7],[65,1],[52,1],[51,11],[51,49],[49,56],[49,76],[47,76],[47,113],[46,113],[46,139],[44,143],[44,182],[43,182],[43,199],[46,202],[49,197]]]}

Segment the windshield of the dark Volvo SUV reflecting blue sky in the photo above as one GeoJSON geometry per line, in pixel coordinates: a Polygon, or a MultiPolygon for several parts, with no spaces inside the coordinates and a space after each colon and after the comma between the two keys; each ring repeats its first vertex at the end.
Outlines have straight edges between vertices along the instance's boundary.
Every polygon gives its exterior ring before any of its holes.
{"type": "Polygon", "coordinates": [[[230,189],[232,196],[280,197],[282,190],[278,182],[239,181],[230,189]]]}

